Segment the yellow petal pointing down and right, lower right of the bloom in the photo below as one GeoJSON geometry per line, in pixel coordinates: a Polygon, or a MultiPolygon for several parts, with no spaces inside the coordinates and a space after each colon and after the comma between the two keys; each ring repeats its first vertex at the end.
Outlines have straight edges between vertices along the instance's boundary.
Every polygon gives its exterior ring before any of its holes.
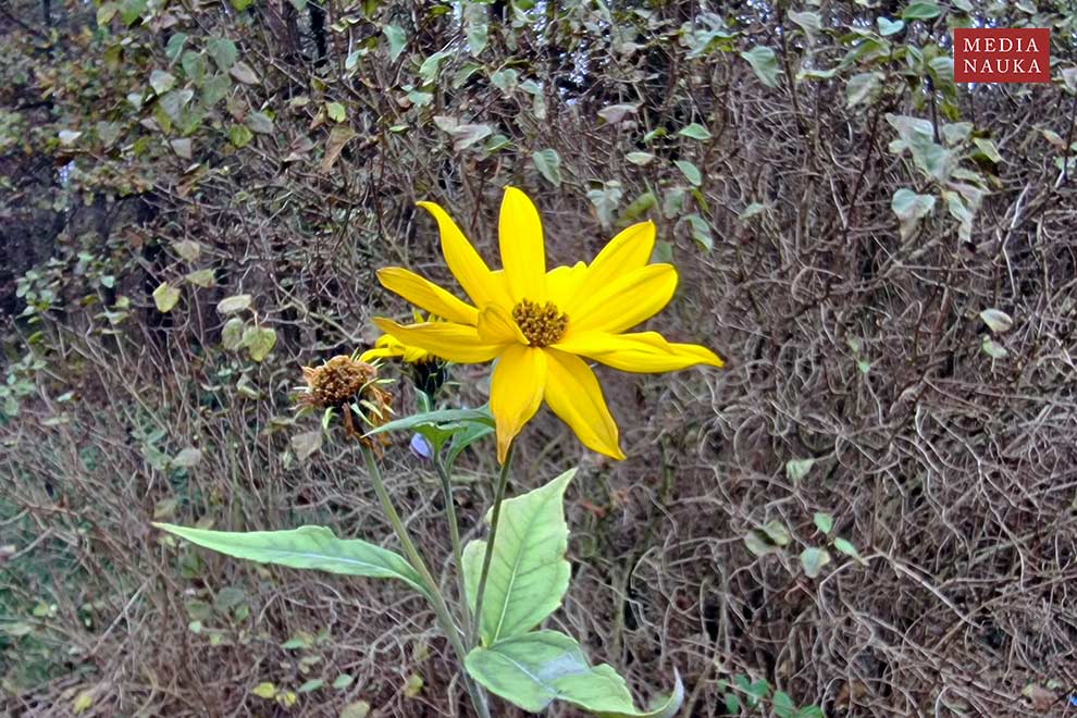
{"type": "Polygon", "coordinates": [[[598,379],[579,357],[547,349],[546,403],[590,449],[623,459],[617,422],[602,396],[598,379]]]}

